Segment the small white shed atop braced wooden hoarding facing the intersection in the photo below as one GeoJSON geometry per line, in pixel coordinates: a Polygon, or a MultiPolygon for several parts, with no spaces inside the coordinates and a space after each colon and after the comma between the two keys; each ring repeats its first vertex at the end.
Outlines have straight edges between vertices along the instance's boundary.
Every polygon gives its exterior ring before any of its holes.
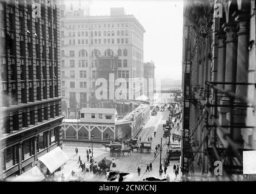
{"type": "Polygon", "coordinates": [[[64,140],[113,141],[116,109],[83,108],[80,119],[63,119],[64,140]]]}

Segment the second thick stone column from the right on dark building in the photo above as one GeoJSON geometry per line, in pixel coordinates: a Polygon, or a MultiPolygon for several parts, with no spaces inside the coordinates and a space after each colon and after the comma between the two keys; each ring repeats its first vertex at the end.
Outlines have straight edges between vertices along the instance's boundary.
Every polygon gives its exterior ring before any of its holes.
{"type": "MultiPolygon", "coordinates": [[[[226,23],[223,25],[224,32],[226,32],[226,67],[225,67],[225,82],[235,82],[237,74],[237,25],[236,23],[226,23]]],[[[225,90],[235,92],[235,85],[224,85],[225,90]]],[[[231,99],[223,95],[220,104],[231,105],[231,99]]],[[[220,124],[228,125],[226,113],[230,112],[229,107],[219,107],[220,124]]]]}

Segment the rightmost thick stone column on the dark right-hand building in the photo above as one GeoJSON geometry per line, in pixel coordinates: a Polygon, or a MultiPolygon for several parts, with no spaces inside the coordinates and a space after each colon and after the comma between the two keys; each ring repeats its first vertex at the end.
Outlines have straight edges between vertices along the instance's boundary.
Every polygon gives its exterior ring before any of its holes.
{"type": "MultiPolygon", "coordinates": [[[[248,82],[248,67],[249,67],[249,22],[250,22],[250,11],[244,10],[244,12],[238,12],[235,20],[238,23],[238,44],[237,44],[237,82],[248,82]]],[[[237,96],[242,96],[243,98],[248,97],[248,85],[236,85],[235,94],[237,96]]],[[[246,105],[247,103],[238,98],[235,100],[234,104],[246,105]]],[[[234,109],[234,119],[235,124],[245,125],[246,124],[246,107],[240,107],[234,109]]],[[[234,125],[235,125],[234,124],[234,125]]],[[[234,140],[240,141],[241,129],[234,129],[232,132],[232,138],[234,140]]]]}

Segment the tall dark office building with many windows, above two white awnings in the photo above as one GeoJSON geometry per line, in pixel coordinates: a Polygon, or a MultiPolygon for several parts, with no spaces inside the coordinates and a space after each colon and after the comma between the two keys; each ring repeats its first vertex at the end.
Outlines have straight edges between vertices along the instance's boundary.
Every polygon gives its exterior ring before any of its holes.
{"type": "Polygon", "coordinates": [[[0,1],[0,179],[62,147],[59,8],[56,1],[0,1]]]}

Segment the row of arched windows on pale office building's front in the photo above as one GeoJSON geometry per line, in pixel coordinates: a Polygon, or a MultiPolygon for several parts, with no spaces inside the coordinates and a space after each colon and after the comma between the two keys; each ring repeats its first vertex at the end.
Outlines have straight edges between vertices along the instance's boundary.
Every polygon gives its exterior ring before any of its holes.
{"type": "MultiPolygon", "coordinates": [[[[114,52],[113,52],[112,49],[106,49],[104,54],[105,54],[105,56],[112,56],[112,55],[114,55],[114,52]]],[[[99,55],[101,55],[101,52],[98,49],[92,50],[92,56],[99,56],[99,55]]],[[[121,49],[117,50],[117,55],[122,56],[122,50],[121,49]]],[[[128,55],[127,49],[124,49],[123,50],[123,56],[127,56],[127,55],[128,55]]],[[[61,50],[61,56],[65,56],[65,50],[61,50]]],[[[69,56],[75,56],[75,50],[69,50],[69,56]]],[[[88,53],[85,49],[81,49],[78,52],[78,56],[79,57],[86,57],[86,56],[88,56],[88,53]]]]}

